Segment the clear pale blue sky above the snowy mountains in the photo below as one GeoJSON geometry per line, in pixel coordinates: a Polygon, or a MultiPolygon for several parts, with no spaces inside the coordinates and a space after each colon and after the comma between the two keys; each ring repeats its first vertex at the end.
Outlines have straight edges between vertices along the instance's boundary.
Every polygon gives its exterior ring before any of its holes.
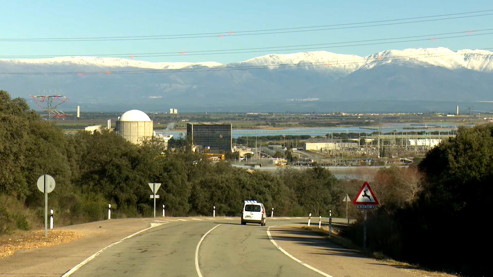
{"type": "MultiPolygon", "coordinates": [[[[493,9],[490,1],[5,1],[0,38],[97,37],[217,32],[223,38],[126,42],[0,42],[0,56],[180,52],[321,44],[493,28],[493,15],[369,28],[252,36],[227,31],[291,28],[440,15],[493,9]]],[[[383,45],[318,49],[366,56],[388,49],[493,48],[493,34],[383,45]]],[[[150,62],[231,63],[270,53],[139,57],[150,62]]]]}

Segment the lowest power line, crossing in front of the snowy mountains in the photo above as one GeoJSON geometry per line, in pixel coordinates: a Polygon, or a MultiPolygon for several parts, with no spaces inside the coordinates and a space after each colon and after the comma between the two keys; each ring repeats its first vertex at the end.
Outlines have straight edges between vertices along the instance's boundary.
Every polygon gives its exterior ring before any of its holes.
{"type": "MultiPolygon", "coordinates": [[[[483,48],[493,49],[491,48],[483,48]]],[[[472,52],[471,52],[472,53],[472,52]]],[[[401,56],[389,56],[389,57],[378,57],[373,60],[378,61],[401,61],[407,60],[409,57],[419,57],[419,56],[431,56],[431,57],[441,57],[441,56],[452,56],[452,55],[462,55],[463,53],[446,53],[446,54],[419,54],[419,55],[401,55],[401,56]]],[[[357,64],[367,61],[368,59],[359,60],[347,60],[343,62],[338,62],[337,65],[348,65],[357,64]]],[[[102,75],[102,74],[144,74],[144,73],[176,73],[176,72],[214,72],[214,71],[229,71],[229,70],[252,70],[252,69],[270,69],[274,67],[278,68],[290,68],[290,67],[317,67],[317,66],[327,66],[329,62],[318,62],[318,63],[305,63],[305,64],[279,64],[279,65],[261,65],[261,66],[237,66],[237,67],[214,67],[214,68],[189,68],[189,69],[153,69],[153,70],[132,70],[132,71],[92,71],[92,72],[0,72],[0,75],[102,75]]]]}

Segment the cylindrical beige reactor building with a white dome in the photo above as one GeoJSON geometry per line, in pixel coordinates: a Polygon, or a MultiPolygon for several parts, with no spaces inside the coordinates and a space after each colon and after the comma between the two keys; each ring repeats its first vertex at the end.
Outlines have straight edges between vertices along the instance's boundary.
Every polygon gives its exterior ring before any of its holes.
{"type": "Polygon", "coordinates": [[[143,139],[153,136],[153,128],[153,121],[145,112],[131,110],[118,117],[115,132],[131,143],[140,144],[143,139]]]}

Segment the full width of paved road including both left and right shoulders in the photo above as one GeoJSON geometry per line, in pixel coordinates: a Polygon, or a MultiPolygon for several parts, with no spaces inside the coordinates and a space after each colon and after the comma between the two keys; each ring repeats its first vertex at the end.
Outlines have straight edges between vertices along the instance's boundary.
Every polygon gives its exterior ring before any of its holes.
{"type": "Polygon", "coordinates": [[[238,217],[160,217],[61,227],[87,235],[0,259],[0,277],[416,276],[334,245],[299,224],[307,219],[268,217],[262,227],[240,225],[238,217]]]}

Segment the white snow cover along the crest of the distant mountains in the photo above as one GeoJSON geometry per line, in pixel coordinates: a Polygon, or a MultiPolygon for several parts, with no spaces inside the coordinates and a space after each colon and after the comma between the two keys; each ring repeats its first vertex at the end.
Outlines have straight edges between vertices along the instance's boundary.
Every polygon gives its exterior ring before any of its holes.
{"type": "Polygon", "coordinates": [[[370,69],[378,65],[399,62],[412,62],[422,66],[439,66],[447,69],[465,68],[476,71],[493,71],[493,52],[486,50],[459,50],[447,48],[420,48],[404,50],[386,50],[366,57],[335,54],[327,51],[300,52],[293,54],[270,54],[250,60],[223,65],[216,62],[200,63],[153,63],[118,57],[54,57],[24,60],[1,60],[10,65],[51,65],[51,66],[97,66],[97,67],[136,67],[145,69],[183,69],[194,67],[224,66],[268,66],[270,69],[284,65],[313,66],[354,72],[360,68],[370,69]]]}

